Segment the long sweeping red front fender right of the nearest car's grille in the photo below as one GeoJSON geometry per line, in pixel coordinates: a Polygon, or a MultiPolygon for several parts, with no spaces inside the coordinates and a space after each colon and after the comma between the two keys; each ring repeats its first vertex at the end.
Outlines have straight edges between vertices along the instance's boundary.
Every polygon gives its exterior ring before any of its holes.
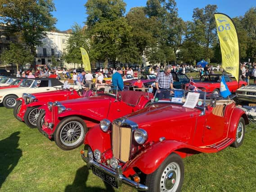
{"type": "Polygon", "coordinates": [[[169,156],[172,152],[176,152],[182,158],[186,157],[187,154],[184,149],[193,149],[192,146],[178,142],[178,141],[163,141],[153,144],[152,146],[147,147],[143,152],[140,152],[130,164],[127,165],[124,174],[133,173],[135,167],[139,168],[144,174],[151,174],[162,164],[162,162],[169,156]],[[183,150],[181,150],[183,149],[183,150]]]}

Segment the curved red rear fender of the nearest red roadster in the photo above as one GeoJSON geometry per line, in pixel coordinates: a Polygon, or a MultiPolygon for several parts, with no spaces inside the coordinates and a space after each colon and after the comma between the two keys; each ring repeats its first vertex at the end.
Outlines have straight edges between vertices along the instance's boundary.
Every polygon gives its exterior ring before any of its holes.
{"type": "Polygon", "coordinates": [[[228,135],[229,138],[234,138],[234,139],[236,138],[236,129],[241,117],[243,117],[245,125],[248,125],[249,120],[245,112],[242,109],[235,107],[233,112],[230,115],[230,120],[229,120],[229,135],[228,135]]]}

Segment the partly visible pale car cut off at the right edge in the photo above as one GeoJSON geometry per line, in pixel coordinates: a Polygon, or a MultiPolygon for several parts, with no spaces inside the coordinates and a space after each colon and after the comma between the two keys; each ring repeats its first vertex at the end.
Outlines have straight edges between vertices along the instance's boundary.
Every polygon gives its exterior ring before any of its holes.
{"type": "Polygon", "coordinates": [[[246,85],[236,91],[239,101],[256,103],[256,85],[246,85]]]}

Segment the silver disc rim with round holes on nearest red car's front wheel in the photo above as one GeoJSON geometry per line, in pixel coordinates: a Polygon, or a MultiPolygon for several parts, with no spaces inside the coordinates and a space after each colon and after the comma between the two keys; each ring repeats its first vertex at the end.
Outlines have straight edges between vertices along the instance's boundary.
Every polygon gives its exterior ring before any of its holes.
{"type": "Polygon", "coordinates": [[[175,192],[180,183],[180,166],[172,162],[164,169],[160,180],[160,192],[175,192]]]}

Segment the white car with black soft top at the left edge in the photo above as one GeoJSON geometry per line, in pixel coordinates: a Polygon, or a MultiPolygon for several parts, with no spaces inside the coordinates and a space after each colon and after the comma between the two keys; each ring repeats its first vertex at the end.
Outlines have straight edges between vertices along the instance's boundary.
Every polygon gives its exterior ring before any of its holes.
{"type": "Polygon", "coordinates": [[[17,88],[1,89],[0,104],[7,108],[13,108],[16,105],[16,99],[22,97],[23,93],[48,92],[62,87],[63,83],[55,78],[27,79],[17,88]]]}

